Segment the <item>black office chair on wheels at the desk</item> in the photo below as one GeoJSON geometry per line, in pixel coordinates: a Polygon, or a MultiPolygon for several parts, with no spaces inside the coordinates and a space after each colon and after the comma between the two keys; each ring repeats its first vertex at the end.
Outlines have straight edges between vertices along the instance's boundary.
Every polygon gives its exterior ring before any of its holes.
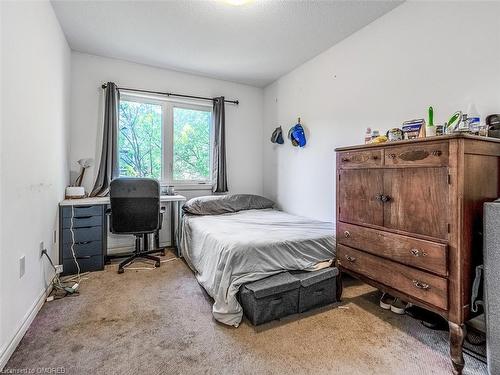
{"type": "Polygon", "coordinates": [[[118,273],[123,273],[123,267],[136,258],[150,259],[155,267],[160,267],[160,258],[151,254],[161,252],[165,255],[165,248],[159,247],[147,250],[147,236],[150,233],[158,235],[163,221],[163,211],[160,208],[160,184],[150,178],[117,178],[110,184],[111,209],[110,230],[114,234],[133,234],[135,236],[135,250],[127,259],[118,265],[118,273]],[[141,237],[144,249],[141,249],[141,237]]]}

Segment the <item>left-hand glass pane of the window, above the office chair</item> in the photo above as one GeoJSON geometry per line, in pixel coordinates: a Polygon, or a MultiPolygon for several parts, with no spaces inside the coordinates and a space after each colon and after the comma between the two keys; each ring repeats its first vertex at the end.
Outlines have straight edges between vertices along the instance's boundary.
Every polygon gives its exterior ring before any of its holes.
{"type": "Polygon", "coordinates": [[[161,105],[120,101],[120,176],[161,178],[161,134],[161,105]]]}

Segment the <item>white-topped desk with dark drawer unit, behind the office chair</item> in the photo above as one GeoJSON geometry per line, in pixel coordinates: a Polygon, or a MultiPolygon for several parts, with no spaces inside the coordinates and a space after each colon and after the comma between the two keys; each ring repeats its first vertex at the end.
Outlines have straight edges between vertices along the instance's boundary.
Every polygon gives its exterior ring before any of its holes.
{"type": "MultiPolygon", "coordinates": [[[[170,206],[171,245],[177,250],[176,228],[179,228],[182,195],[162,195],[161,203],[170,206]],[[176,225],[177,222],[177,225],[176,225]]],[[[70,231],[73,216],[73,232],[75,237],[75,255],[79,260],[81,272],[97,271],[104,268],[108,259],[107,235],[108,220],[106,208],[110,204],[109,197],[82,199],[65,199],[59,203],[59,262],[63,264],[63,274],[76,273],[71,244],[73,238],[70,231]]]]}

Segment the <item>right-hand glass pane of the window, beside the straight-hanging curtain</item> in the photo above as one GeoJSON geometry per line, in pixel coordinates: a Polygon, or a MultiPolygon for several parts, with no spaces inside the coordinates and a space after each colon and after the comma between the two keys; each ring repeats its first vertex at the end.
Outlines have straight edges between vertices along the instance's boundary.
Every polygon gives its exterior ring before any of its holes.
{"type": "Polygon", "coordinates": [[[210,111],[174,107],[175,181],[210,180],[210,111]]]}

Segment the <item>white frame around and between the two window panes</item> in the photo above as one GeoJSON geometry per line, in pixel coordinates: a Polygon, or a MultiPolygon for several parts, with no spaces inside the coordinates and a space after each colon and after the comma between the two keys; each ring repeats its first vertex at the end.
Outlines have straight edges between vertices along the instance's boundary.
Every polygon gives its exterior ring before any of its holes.
{"type": "MultiPolygon", "coordinates": [[[[120,95],[121,101],[131,101],[136,103],[153,104],[161,106],[161,150],[162,150],[162,165],[161,176],[159,179],[161,186],[174,186],[185,190],[205,190],[212,187],[212,167],[213,167],[213,144],[214,144],[214,129],[213,129],[213,108],[211,104],[195,103],[189,100],[172,100],[156,95],[144,95],[133,92],[122,92],[120,95]],[[210,112],[210,171],[207,180],[174,180],[173,179],[173,163],[174,163],[174,108],[192,109],[195,111],[210,112]]],[[[118,120],[119,124],[119,120],[118,120]]],[[[119,129],[118,129],[119,134],[119,129]]],[[[118,148],[120,146],[118,145],[118,148]]],[[[118,150],[119,152],[119,150],[118,150]]],[[[120,159],[118,159],[120,163],[120,159]]],[[[120,165],[118,164],[120,170],[120,165]]]]}

